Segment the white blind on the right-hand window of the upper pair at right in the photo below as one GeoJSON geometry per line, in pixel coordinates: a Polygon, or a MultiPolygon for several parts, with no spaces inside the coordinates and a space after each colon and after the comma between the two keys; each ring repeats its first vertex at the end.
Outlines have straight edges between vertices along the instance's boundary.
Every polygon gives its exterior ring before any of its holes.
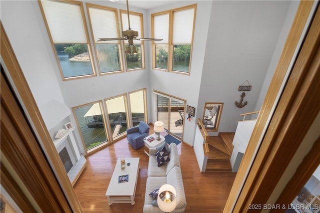
{"type": "Polygon", "coordinates": [[[194,8],[173,12],[174,44],[190,44],[192,41],[194,8]]]}

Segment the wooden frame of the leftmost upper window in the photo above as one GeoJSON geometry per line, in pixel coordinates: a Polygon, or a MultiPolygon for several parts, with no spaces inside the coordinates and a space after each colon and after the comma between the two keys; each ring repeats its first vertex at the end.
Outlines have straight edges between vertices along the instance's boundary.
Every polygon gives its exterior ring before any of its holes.
{"type": "MultiPolygon", "coordinates": [[[[45,13],[44,13],[44,9],[43,9],[41,1],[39,0],[38,4],[39,4],[40,10],[41,10],[42,18],[43,18],[43,21],[44,21],[44,24],[45,24],[45,27],[46,27],[50,42],[51,42],[51,46],[52,46],[52,49],[53,49],[53,52],[54,52],[54,55],[55,55],[55,59],[56,59],[57,65],[58,65],[59,70],[60,70],[60,74],[61,74],[62,80],[65,81],[65,80],[73,80],[73,79],[80,79],[80,78],[87,78],[87,77],[95,77],[96,76],[96,70],[95,70],[95,66],[94,66],[94,57],[93,57],[93,54],[92,54],[91,42],[90,42],[90,39],[89,39],[89,33],[88,33],[87,25],[86,25],[83,3],[81,1],[75,1],[75,0],[72,0],[72,1],[71,0],[64,0],[64,1],[57,1],[57,2],[79,5],[81,18],[82,18],[82,22],[83,22],[83,26],[84,26],[83,27],[84,28],[84,33],[85,33],[85,37],[86,37],[86,43],[85,44],[87,45],[88,54],[89,54],[89,58],[90,58],[90,64],[91,64],[91,68],[92,68],[92,74],[80,75],[80,76],[72,76],[72,77],[65,77],[64,76],[62,68],[61,68],[61,65],[60,65],[60,62],[59,62],[59,58],[58,58],[57,52],[56,52],[55,47],[54,47],[54,44],[63,44],[63,43],[54,43],[53,42],[53,39],[52,39],[52,36],[51,36],[51,31],[49,29],[49,26],[48,26],[48,23],[47,23],[47,19],[46,19],[45,13]]],[[[82,44],[82,43],[69,43],[69,42],[67,42],[65,44],[82,44]]]]}

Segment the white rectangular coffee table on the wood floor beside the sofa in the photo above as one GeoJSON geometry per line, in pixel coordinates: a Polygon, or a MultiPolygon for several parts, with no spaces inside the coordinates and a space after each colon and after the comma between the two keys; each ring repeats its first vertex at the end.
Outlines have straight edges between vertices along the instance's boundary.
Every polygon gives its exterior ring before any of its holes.
{"type": "Polygon", "coordinates": [[[124,169],[121,169],[120,160],[121,158],[118,158],[116,162],[105,196],[109,205],[113,203],[131,203],[131,205],[134,205],[134,194],[140,169],[139,158],[124,158],[124,169]],[[127,166],[127,163],[130,163],[130,165],[127,166]],[[121,175],[128,175],[128,182],[118,183],[118,178],[121,175]]]}

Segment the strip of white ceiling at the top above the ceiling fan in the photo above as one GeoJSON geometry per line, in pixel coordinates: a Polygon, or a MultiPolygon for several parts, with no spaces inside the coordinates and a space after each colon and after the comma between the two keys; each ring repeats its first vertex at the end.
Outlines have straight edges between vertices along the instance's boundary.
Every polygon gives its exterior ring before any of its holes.
{"type": "MultiPolygon", "coordinates": [[[[121,4],[126,4],[126,0],[110,0],[121,4]]],[[[170,3],[175,3],[181,0],[128,0],[129,10],[130,6],[142,8],[142,9],[151,9],[157,6],[162,6],[170,3]]]]}

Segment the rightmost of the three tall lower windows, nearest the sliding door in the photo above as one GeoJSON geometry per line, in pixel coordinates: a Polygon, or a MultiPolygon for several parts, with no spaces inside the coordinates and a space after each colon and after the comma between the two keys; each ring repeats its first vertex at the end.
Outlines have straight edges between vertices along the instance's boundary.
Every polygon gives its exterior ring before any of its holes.
{"type": "Polygon", "coordinates": [[[139,125],[140,121],[146,122],[146,90],[130,92],[129,101],[133,126],[139,125]]]}

